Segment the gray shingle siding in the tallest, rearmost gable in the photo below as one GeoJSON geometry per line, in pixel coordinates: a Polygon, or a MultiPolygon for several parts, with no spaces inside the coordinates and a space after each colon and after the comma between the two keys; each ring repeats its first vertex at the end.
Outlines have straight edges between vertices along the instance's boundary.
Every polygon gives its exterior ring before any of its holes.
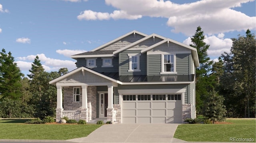
{"type": "Polygon", "coordinates": [[[142,38],[144,38],[145,36],[136,34],[136,36],[134,37],[134,34],[130,34],[129,36],[126,36],[125,38],[121,39],[120,41],[111,44],[105,48],[102,48],[101,50],[118,50],[120,48],[123,48],[133,42],[136,42],[142,38]]]}

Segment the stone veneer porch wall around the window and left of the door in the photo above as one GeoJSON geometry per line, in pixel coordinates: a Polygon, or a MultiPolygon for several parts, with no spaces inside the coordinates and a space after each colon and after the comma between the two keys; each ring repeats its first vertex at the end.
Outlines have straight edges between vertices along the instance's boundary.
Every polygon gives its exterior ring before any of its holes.
{"type": "MultiPolygon", "coordinates": [[[[64,110],[80,110],[82,107],[82,87],[80,87],[80,101],[73,101],[73,87],[64,87],[63,88],[64,101],[63,108],[64,110]]],[[[87,87],[87,103],[91,102],[92,105],[92,119],[96,118],[96,86],[87,87]]]]}

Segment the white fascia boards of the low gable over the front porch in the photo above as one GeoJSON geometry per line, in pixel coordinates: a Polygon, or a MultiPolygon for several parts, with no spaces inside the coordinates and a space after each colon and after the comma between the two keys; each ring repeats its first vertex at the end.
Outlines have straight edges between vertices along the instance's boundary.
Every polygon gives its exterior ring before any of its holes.
{"type": "Polygon", "coordinates": [[[75,73],[77,73],[77,72],[79,72],[79,71],[84,71],[84,70],[85,70],[85,71],[88,71],[88,72],[90,72],[90,73],[94,73],[94,74],[96,74],[96,75],[99,75],[99,76],[101,76],[101,77],[103,77],[103,78],[106,78],[106,79],[108,79],[108,80],[110,80],[110,81],[113,81],[113,82],[115,82],[115,83],[122,84],[121,81],[115,80],[115,79],[113,79],[113,78],[111,78],[111,77],[108,77],[108,76],[106,76],[106,75],[100,74],[100,73],[98,73],[98,72],[96,72],[96,71],[93,71],[93,70],[90,70],[90,69],[84,68],[84,67],[80,67],[80,68],[77,68],[76,70],[70,71],[69,73],[67,73],[67,74],[65,74],[65,75],[62,75],[62,76],[60,76],[60,77],[58,77],[58,78],[56,78],[56,79],[50,81],[49,83],[55,85],[58,81],[61,81],[62,79],[65,79],[66,77],[68,77],[68,76],[70,76],[70,75],[72,75],[72,74],[75,74],[75,73]]]}

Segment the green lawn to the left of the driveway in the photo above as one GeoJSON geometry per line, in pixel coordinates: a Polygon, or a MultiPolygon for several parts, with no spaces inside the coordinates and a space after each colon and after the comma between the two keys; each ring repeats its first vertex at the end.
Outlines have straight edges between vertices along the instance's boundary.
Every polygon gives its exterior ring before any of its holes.
{"type": "Polygon", "coordinates": [[[102,125],[24,124],[28,119],[0,120],[0,139],[66,140],[86,137],[102,125]]]}

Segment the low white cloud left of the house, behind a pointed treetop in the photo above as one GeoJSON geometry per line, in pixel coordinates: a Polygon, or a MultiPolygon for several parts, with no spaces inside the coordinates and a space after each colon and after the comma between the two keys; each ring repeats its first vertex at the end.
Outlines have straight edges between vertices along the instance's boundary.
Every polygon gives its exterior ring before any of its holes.
{"type": "Polygon", "coordinates": [[[31,64],[36,58],[39,57],[42,66],[44,67],[45,71],[58,71],[60,68],[68,68],[68,70],[76,69],[76,64],[74,61],[70,60],[58,60],[53,58],[48,58],[44,54],[37,54],[37,55],[29,55],[26,57],[18,57],[17,66],[20,70],[28,71],[31,69],[31,64]]]}

